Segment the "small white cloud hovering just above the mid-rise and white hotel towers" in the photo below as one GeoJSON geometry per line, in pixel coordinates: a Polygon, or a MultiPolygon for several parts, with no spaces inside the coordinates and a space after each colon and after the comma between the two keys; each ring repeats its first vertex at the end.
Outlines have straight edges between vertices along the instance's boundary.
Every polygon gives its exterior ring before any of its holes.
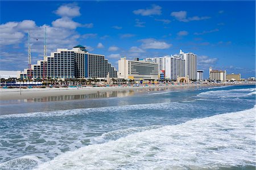
{"type": "Polygon", "coordinates": [[[143,49],[167,49],[172,46],[172,44],[167,44],[164,41],[158,41],[155,39],[143,39],[141,48],[143,49]]]}

